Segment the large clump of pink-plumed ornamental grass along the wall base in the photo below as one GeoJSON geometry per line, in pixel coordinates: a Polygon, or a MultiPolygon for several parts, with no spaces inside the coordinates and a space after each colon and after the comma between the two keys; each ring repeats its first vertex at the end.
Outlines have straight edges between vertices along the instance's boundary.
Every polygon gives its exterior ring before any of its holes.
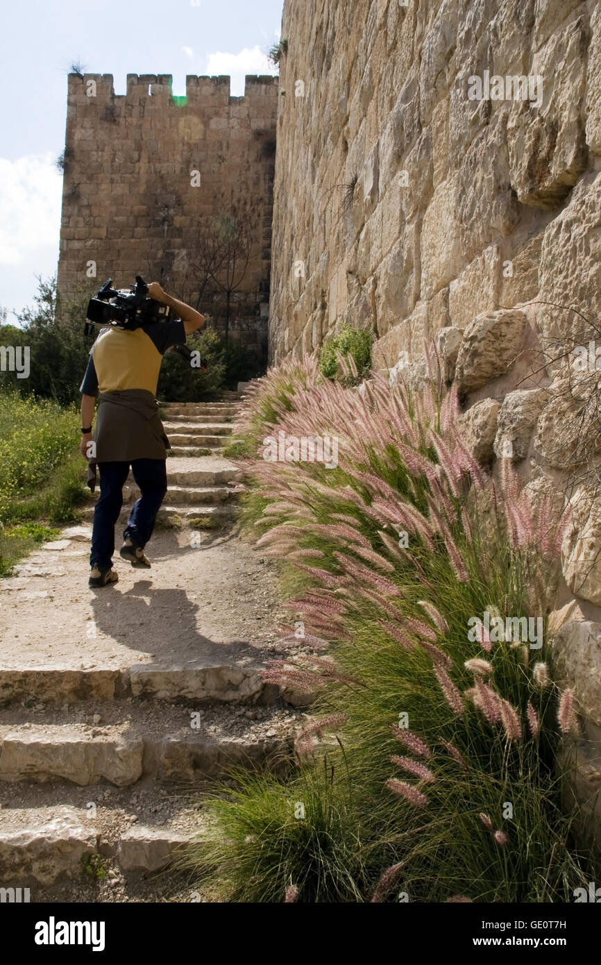
{"type": "Polygon", "coordinates": [[[296,776],[209,805],[199,855],[226,899],[568,901],[588,880],[556,758],[577,705],[546,662],[566,520],[508,460],[489,478],[458,411],[435,355],[420,391],[287,363],[249,402],[247,521],[282,561],[283,633],[301,646],[263,676],[310,693],[316,723],[296,776]],[[263,458],[278,432],[336,437],[338,464],[263,458]],[[325,837],[294,817],[307,782],[337,815],[325,837]]]}

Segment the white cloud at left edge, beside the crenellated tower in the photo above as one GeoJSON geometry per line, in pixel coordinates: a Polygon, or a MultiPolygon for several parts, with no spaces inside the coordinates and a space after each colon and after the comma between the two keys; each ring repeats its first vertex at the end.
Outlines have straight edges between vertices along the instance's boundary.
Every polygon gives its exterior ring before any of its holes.
{"type": "Polygon", "coordinates": [[[58,247],[62,187],[50,152],[0,158],[0,264],[20,264],[44,245],[58,247]]]}

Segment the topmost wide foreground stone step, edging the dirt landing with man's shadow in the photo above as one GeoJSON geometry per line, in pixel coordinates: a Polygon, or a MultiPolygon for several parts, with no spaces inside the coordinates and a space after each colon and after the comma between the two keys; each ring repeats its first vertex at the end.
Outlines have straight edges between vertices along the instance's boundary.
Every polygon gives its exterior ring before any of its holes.
{"type": "MultiPolygon", "coordinates": [[[[248,658],[236,663],[198,659],[185,666],[0,666],[0,707],[20,703],[29,709],[50,703],[65,709],[71,703],[149,697],[195,703],[274,703],[278,689],[263,683],[260,670],[261,665],[248,658]]],[[[34,709],[33,716],[38,712],[34,709]]]]}

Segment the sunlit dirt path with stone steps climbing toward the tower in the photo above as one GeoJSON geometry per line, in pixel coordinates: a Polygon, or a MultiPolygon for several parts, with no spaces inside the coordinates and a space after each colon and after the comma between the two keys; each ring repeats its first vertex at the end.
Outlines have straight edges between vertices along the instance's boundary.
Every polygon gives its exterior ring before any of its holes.
{"type": "Polygon", "coordinates": [[[203,791],[232,765],[289,766],[303,711],[260,671],[294,647],[275,568],[235,523],[233,412],[169,407],[150,570],[117,555],[119,583],[91,591],[87,522],[0,582],[0,884],[32,901],[199,900],[165,869],[202,834],[203,791]]]}

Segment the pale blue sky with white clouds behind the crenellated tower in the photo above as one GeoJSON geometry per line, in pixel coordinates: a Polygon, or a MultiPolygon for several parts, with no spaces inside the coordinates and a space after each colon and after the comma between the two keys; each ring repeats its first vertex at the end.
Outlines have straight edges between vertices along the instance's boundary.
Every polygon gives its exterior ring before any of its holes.
{"type": "Polygon", "coordinates": [[[283,0],[20,0],[5,4],[0,96],[0,308],[31,304],[36,275],[56,271],[67,74],[81,62],[112,73],[272,73],[265,53],[280,36],[283,0]]]}

